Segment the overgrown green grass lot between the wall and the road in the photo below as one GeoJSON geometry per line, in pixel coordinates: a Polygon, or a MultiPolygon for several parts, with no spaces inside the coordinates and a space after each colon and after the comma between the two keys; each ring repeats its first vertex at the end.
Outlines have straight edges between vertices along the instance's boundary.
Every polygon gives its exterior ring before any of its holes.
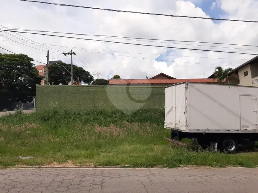
{"type": "Polygon", "coordinates": [[[258,165],[258,154],[235,155],[173,147],[164,140],[164,111],[72,112],[51,109],[0,118],[0,165],[258,165]],[[21,160],[19,156],[33,156],[21,160]]]}

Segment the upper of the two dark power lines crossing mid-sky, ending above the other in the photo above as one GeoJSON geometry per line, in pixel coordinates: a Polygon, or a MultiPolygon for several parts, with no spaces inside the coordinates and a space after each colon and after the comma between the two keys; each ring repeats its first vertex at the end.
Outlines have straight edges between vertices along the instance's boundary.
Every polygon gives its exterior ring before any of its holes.
{"type": "MultiPolygon", "coordinates": [[[[10,28],[11,29],[11,28],[10,28]]],[[[0,30],[4,31],[5,29],[0,30]]],[[[153,38],[134,38],[126,36],[110,36],[110,35],[94,35],[94,34],[83,34],[83,33],[66,33],[66,32],[56,32],[56,31],[44,31],[44,30],[31,30],[31,29],[20,29],[12,28],[12,30],[20,31],[34,31],[34,32],[46,32],[46,33],[61,33],[70,35],[80,35],[80,36],[96,36],[96,37],[110,37],[110,38],[127,38],[127,39],[138,39],[138,40],[155,40],[155,41],[175,41],[175,42],[192,42],[192,43],[202,43],[202,44],[222,44],[222,45],[232,45],[232,46],[251,46],[258,47],[257,45],[245,45],[245,44],[228,44],[228,43],[217,43],[217,42],[204,42],[204,41],[184,41],[184,40],[169,40],[169,39],[153,39],[153,38]]]]}

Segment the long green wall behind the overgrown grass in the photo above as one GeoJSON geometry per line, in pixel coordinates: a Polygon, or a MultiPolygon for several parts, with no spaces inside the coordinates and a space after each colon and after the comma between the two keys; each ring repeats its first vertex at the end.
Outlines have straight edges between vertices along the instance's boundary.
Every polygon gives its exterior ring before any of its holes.
{"type": "Polygon", "coordinates": [[[36,86],[36,110],[50,107],[71,110],[136,111],[164,108],[164,87],[143,86],[36,86]]]}

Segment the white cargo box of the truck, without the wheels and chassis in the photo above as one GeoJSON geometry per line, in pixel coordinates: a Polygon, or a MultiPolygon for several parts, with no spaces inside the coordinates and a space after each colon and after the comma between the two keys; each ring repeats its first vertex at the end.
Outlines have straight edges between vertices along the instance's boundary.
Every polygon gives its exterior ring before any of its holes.
{"type": "Polygon", "coordinates": [[[165,88],[164,128],[257,133],[258,87],[184,82],[165,88]]]}

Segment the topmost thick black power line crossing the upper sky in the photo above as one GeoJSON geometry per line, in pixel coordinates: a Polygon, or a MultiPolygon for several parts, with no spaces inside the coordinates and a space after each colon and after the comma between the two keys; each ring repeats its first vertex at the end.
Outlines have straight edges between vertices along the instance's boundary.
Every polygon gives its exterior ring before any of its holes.
{"type": "Polygon", "coordinates": [[[98,9],[98,10],[105,10],[105,11],[112,11],[112,12],[121,12],[121,13],[137,13],[137,14],[145,14],[145,15],[162,15],[162,16],[168,16],[168,17],[186,17],[186,18],[195,18],[195,19],[206,19],[206,20],[222,20],[222,21],[239,21],[239,22],[253,22],[253,23],[258,23],[258,21],[251,21],[251,20],[230,20],[230,19],[210,18],[210,17],[194,17],[194,16],[185,16],[185,15],[168,15],[168,14],[160,14],[160,13],[147,13],[147,12],[124,11],[124,10],[116,10],[116,9],[104,9],[104,8],[98,8],[98,7],[85,7],[85,6],[79,6],[79,5],[69,5],[69,4],[60,4],[60,3],[49,3],[49,2],[32,1],[32,0],[18,0],[18,1],[27,1],[27,2],[34,2],[34,3],[43,3],[43,4],[58,5],[58,6],[79,7],[79,8],[87,8],[87,9],[98,9]]]}

